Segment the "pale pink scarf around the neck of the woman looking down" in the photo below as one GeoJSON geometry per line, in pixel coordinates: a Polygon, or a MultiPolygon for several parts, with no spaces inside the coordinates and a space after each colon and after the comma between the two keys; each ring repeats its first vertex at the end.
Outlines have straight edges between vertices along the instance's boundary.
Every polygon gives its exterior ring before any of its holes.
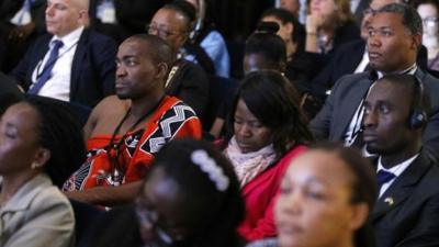
{"type": "Polygon", "coordinates": [[[277,159],[272,144],[257,151],[243,154],[235,136],[232,137],[224,154],[232,161],[241,188],[262,173],[277,159]]]}

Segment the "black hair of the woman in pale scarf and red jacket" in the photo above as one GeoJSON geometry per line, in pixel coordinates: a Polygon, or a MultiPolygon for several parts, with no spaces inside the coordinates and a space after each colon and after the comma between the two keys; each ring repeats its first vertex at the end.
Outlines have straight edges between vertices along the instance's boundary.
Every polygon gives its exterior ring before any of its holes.
{"type": "Polygon", "coordinates": [[[272,133],[274,150],[283,156],[300,144],[313,142],[306,119],[300,109],[300,97],[285,77],[277,71],[248,74],[238,87],[226,120],[229,141],[234,135],[235,111],[243,99],[249,111],[272,133]]]}

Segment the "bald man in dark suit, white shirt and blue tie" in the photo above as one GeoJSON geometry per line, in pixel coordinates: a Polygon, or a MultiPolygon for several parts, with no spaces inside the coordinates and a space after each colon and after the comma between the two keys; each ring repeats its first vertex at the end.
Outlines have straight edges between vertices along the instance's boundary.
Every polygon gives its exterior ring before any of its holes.
{"type": "Polygon", "coordinates": [[[48,0],[46,27],[13,69],[29,93],[93,106],[114,93],[115,43],[85,27],[88,0],[48,0]]]}

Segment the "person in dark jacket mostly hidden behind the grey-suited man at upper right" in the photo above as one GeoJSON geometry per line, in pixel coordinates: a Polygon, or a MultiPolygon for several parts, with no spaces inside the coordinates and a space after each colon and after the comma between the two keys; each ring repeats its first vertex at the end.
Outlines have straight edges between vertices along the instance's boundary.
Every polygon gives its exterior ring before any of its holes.
{"type": "MultiPolygon", "coordinates": [[[[373,13],[390,3],[405,3],[405,0],[372,0],[369,8],[364,10],[361,23],[361,38],[347,42],[335,50],[328,64],[311,81],[311,93],[318,99],[319,104],[325,102],[330,89],[342,76],[371,69],[367,48],[368,26],[373,13]]],[[[427,52],[423,46],[417,54],[417,65],[423,69],[427,68],[427,52]]]]}

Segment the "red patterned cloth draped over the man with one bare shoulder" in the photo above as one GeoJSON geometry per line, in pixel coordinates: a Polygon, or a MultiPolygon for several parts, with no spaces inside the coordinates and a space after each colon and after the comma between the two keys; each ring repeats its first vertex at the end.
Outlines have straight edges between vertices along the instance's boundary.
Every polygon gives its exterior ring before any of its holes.
{"type": "MultiPolygon", "coordinates": [[[[168,142],[178,137],[201,138],[201,123],[195,112],[175,97],[165,98],[161,105],[145,125],[144,130],[127,133],[119,148],[122,151],[105,150],[111,135],[99,135],[88,139],[88,159],[64,184],[63,190],[86,190],[99,186],[120,186],[143,179],[154,159],[155,154],[168,142]],[[117,157],[122,171],[116,176],[109,156],[117,157]],[[113,172],[112,172],[113,171],[113,172]]],[[[122,136],[116,137],[119,143],[122,136]]]]}

